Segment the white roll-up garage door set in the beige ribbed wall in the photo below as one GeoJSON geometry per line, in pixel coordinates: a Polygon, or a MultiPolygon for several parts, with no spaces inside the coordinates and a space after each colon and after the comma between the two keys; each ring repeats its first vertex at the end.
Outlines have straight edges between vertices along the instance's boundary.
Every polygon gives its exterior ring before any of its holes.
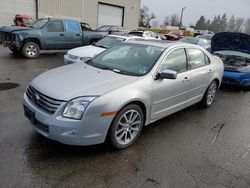
{"type": "Polygon", "coordinates": [[[98,27],[103,25],[123,26],[123,11],[123,7],[99,3],[98,27]]]}

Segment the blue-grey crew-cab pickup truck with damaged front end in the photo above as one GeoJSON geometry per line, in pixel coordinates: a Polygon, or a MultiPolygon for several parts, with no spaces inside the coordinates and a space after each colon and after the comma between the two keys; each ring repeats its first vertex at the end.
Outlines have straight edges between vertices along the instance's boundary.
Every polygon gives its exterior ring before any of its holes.
{"type": "Polygon", "coordinates": [[[0,44],[14,54],[37,58],[40,50],[67,50],[89,45],[110,32],[83,30],[76,20],[42,18],[28,27],[1,27],[0,44]]]}

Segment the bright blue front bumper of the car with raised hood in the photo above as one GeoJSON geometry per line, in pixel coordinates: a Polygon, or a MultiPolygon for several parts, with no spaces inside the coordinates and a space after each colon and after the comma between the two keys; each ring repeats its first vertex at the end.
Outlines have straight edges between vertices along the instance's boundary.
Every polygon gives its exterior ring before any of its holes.
{"type": "Polygon", "coordinates": [[[238,87],[249,87],[250,73],[224,71],[222,83],[238,87]]]}

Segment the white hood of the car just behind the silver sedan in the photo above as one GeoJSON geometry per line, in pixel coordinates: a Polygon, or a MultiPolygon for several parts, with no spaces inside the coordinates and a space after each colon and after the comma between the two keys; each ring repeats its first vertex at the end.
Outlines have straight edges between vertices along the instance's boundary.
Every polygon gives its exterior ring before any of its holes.
{"type": "Polygon", "coordinates": [[[68,51],[68,54],[77,56],[77,57],[94,57],[95,55],[106,50],[105,48],[97,47],[94,45],[83,46],[79,48],[74,48],[68,51]]]}

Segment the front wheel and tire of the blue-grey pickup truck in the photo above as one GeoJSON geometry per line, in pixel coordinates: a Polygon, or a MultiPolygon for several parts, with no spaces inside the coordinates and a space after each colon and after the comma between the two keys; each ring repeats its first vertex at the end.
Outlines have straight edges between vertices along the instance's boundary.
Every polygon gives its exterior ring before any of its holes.
{"type": "Polygon", "coordinates": [[[40,54],[39,46],[34,42],[26,42],[22,48],[22,55],[29,59],[35,59],[40,54]]]}

